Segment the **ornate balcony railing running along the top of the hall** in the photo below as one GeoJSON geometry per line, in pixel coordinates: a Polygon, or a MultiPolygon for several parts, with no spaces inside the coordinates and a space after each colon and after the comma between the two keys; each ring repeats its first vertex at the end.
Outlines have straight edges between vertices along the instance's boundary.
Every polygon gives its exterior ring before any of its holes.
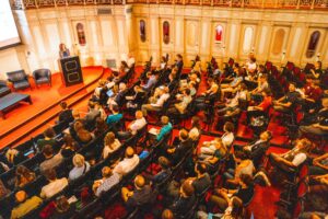
{"type": "Polygon", "coordinates": [[[184,5],[211,5],[226,8],[258,8],[258,9],[309,9],[327,10],[328,0],[11,0],[12,8],[38,9],[68,5],[95,5],[95,4],[184,4],[184,5]]]}

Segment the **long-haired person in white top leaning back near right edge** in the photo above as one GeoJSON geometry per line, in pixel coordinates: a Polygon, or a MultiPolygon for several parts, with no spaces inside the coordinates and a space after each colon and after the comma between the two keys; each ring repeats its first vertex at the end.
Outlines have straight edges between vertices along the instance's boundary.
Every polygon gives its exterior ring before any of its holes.
{"type": "Polygon", "coordinates": [[[270,162],[279,168],[279,170],[289,172],[290,168],[296,169],[306,161],[311,148],[312,142],[306,138],[297,140],[295,147],[285,153],[270,153],[270,162]]]}

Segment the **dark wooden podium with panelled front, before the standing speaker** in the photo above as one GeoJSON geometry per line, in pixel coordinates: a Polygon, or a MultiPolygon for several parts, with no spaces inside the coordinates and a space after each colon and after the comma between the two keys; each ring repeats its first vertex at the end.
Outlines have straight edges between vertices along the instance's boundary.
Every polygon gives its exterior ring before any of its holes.
{"type": "Polygon", "coordinates": [[[83,76],[79,56],[59,59],[61,80],[66,87],[83,83],[83,76]]]}

